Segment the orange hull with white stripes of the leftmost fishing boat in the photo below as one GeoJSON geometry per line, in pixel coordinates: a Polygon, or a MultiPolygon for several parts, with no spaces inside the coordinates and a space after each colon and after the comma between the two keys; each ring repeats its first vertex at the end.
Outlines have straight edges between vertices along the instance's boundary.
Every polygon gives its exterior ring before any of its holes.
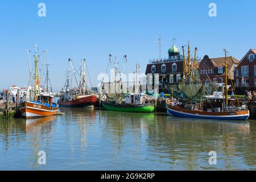
{"type": "Polygon", "coordinates": [[[40,102],[25,101],[19,104],[18,110],[22,118],[38,118],[56,115],[58,107],[46,106],[40,102]]]}

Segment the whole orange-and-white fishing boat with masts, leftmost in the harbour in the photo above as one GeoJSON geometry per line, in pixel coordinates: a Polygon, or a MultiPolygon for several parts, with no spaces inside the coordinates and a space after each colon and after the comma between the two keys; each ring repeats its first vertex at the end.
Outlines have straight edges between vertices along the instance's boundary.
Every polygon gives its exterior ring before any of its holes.
{"type": "MultiPolygon", "coordinates": [[[[39,77],[38,75],[38,48],[35,45],[35,61],[34,61],[34,67],[35,73],[34,77],[32,76],[32,72],[30,69],[30,82],[28,85],[32,85],[32,82],[34,80],[34,100],[25,100],[20,102],[18,105],[18,111],[20,113],[20,116],[23,118],[36,118],[36,117],[47,117],[49,115],[55,115],[58,112],[58,106],[57,104],[53,103],[53,96],[48,93],[41,93],[41,86],[40,81],[42,80],[42,73],[39,77]]],[[[46,52],[44,55],[44,62],[46,60],[46,52]]],[[[44,62],[42,65],[41,71],[43,72],[44,62]]],[[[28,63],[30,63],[28,59],[28,63]]]]}

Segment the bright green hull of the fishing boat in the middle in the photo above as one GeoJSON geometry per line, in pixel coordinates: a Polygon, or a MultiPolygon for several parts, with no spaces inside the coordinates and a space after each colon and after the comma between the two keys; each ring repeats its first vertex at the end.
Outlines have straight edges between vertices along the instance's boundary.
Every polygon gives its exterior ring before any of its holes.
{"type": "Polygon", "coordinates": [[[151,113],[152,111],[155,110],[155,106],[149,103],[141,104],[141,105],[117,105],[117,104],[111,104],[109,102],[102,102],[102,106],[106,110],[133,112],[133,113],[151,113]]]}

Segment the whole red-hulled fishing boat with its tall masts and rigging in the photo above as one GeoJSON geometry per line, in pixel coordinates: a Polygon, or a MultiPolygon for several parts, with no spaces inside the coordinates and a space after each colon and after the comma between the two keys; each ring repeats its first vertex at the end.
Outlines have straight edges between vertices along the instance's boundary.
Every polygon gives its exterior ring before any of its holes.
{"type": "MultiPolygon", "coordinates": [[[[71,88],[71,76],[69,70],[65,81],[65,91],[61,92],[60,100],[57,102],[60,107],[89,107],[93,108],[96,105],[97,96],[93,94],[88,78],[85,75],[86,61],[82,60],[82,68],[80,73],[80,83],[77,80],[76,71],[73,67],[72,60],[69,59],[73,75],[77,83],[77,88],[71,88]]],[[[88,71],[88,69],[86,69],[88,71]]]]}

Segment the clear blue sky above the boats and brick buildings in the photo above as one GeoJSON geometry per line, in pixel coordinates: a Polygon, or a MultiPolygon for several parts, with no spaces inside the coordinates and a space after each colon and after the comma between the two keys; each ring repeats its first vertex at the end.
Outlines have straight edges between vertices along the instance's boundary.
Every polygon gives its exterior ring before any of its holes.
{"type": "Polygon", "coordinates": [[[167,57],[172,38],[181,48],[190,40],[199,56],[230,55],[240,60],[256,48],[256,1],[2,1],[0,5],[0,89],[26,85],[26,50],[38,44],[48,50],[51,81],[59,90],[64,81],[68,58],[77,64],[88,61],[90,77],[98,84],[108,55],[128,56],[130,65],[146,69],[149,59],[158,57],[155,40],[162,34],[163,57],[167,57]],[[46,17],[38,16],[38,4],[46,3],[46,17]],[[209,17],[209,3],[217,4],[217,17],[209,17]],[[214,53],[213,53],[214,52],[214,53]]]}

